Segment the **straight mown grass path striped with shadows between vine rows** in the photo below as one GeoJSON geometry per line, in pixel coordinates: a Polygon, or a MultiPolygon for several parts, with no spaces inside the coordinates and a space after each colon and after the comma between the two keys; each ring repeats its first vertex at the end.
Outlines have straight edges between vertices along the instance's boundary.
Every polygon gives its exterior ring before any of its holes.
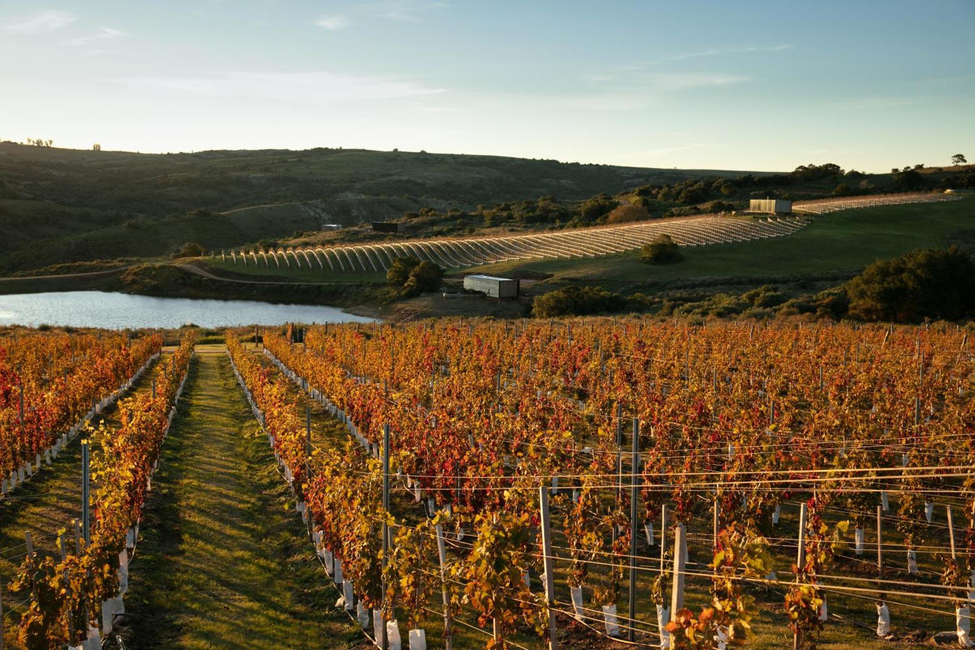
{"type": "Polygon", "coordinates": [[[141,526],[132,648],[358,645],[222,346],[190,370],[141,526]]]}

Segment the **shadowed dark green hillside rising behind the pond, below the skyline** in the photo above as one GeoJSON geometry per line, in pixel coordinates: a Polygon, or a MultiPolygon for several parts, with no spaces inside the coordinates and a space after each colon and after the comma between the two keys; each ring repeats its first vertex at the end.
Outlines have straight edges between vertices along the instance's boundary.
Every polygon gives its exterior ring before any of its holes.
{"type": "Polygon", "coordinates": [[[0,267],[157,257],[433,207],[741,174],[554,160],[316,148],[143,154],[0,142],[0,267]],[[226,212],[226,215],[220,213],[226,212]]]}

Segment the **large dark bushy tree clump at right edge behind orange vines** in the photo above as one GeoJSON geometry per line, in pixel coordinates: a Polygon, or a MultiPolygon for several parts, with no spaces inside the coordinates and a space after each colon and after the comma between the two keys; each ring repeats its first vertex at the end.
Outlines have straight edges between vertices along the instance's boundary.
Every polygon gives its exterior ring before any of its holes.
{"type": "Polygon", "coordinates": [[[975,262],[954,246],[917,249],[867,266],[845,288],[850,315],[863,320],[955,320],[975,309],[975,262]]]}

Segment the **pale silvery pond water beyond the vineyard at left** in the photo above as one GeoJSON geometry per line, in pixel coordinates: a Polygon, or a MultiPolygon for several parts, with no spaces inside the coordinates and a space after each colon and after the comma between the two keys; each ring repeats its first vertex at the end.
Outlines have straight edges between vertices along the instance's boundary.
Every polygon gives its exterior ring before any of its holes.
{"type": "Polygon", "coordinates": [[[296,323],[372,322],[372,318],[323,305],[273,305],[257,301],[203,301],[151,298],[103,291],[65,291],[0,296],[0,325],[200,327],[296,323]]]}

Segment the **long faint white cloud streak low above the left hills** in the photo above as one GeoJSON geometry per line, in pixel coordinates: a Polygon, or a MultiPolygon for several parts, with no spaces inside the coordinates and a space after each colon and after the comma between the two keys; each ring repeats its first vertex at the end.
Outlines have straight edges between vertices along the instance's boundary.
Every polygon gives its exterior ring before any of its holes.
{"type": "Polygon", "coordinates": [[[140,91],[264,102],[287,98],[295,104],[327,104],[416,99],[443,93],[410,81],[333,72],[236,72],[212,77],[133,77],[106,79],[140,91]]]}

